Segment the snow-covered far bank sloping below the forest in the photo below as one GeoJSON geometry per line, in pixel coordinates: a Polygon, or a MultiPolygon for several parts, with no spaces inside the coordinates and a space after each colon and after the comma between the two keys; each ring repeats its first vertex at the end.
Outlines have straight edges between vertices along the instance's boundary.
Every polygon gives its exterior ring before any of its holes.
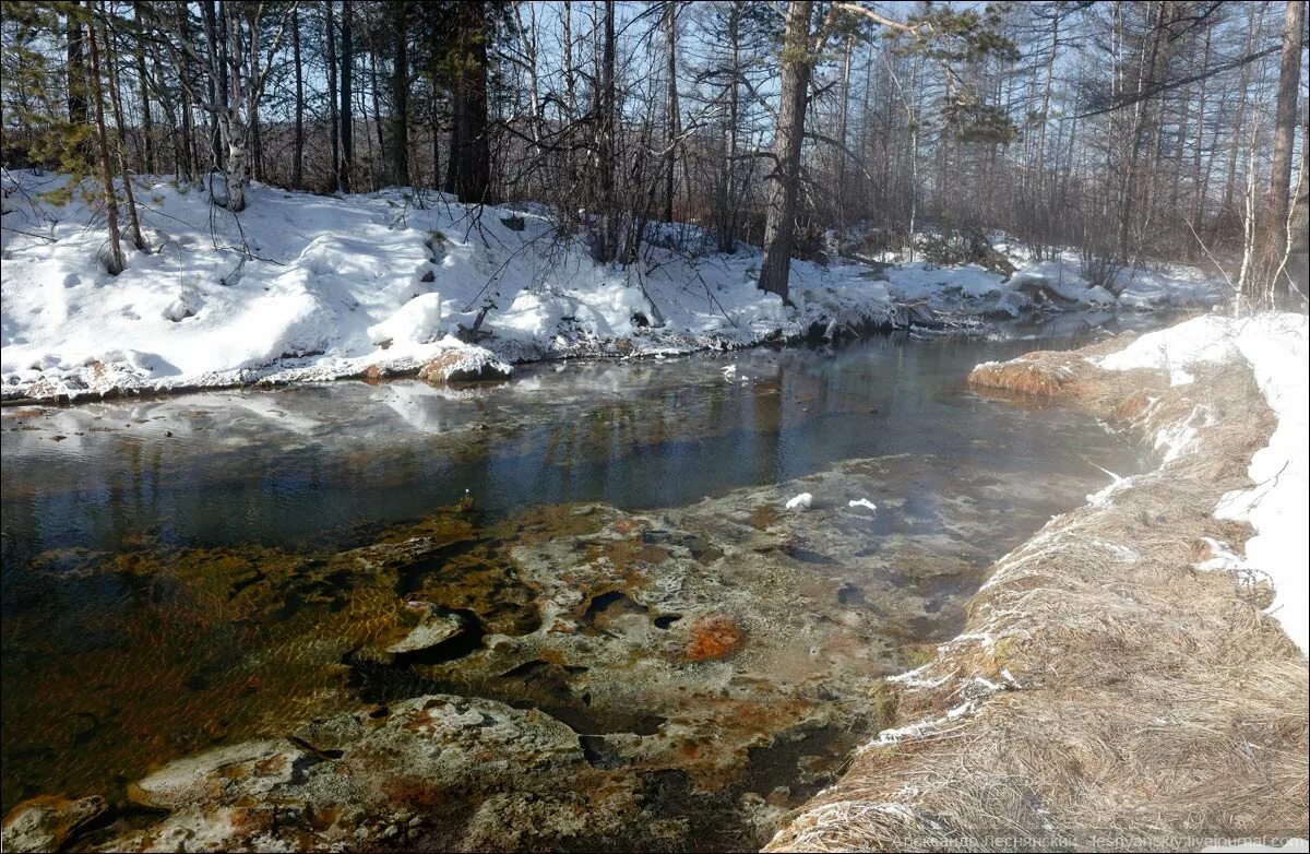
{"type": "MultiPolygon", "coordinates": [[[[1009,280],[975,266],[796,261],[794,305],[783,305],[755,287],[757,250],[652,246],[643,263],[618,269],[595,263],[580,240],[557,241],[531,206],[255,185],[249,208],[233,216],[203,187],[148,177],[134,181],[148,251],[124,241],[127,269],[110,276],[100,262],[100,198],[73,193],[56,204],[45,195],[66,183],[0,174],[7,398],[322,380],[409,371],[445,354],[466,369],[507,369],[554,356],[741,347],[870,322],[1210,305],[1224,296],[1220,283],[1183,270],[1138,274],[1116,299],[1089,287],[1070,259],[1030,263],[1009,280]],[[464,343],[458,327],[487,306],[490,337],[464,343]]],[[[656,242],[672,233],[696,244],[700,232],[663,227],[656,242]]]]}

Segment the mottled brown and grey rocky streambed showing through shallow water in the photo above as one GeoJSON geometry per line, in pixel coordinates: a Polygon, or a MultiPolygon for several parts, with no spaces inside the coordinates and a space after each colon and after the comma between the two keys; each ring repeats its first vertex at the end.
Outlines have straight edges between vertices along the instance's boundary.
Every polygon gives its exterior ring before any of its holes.
{"type": "MultiPolygon", "coordinates": [[[[469,502],[328,554],[46,554],[10,599],[85,575],[148,585],[153,605],[118,630],[174,648],[141,667],[106,637],[71,659],[72,748],[48,747],[63,710],[7,707],[81,796],[16,807],[7,847],[758,846],[886,723],[882,677],[962,625],[1014,529],[1001,515],[1039,524],[1051,489],[1073,503],[1081,486],[959,473],[929,489],[941,470],[848,461],[639,513],[486,523],[469,502]],[[882,499],[888,482],[904,496],[882,499]],[[785,510],[802,490],[811,508],[785,510]],[[850,503],[870,496],[876,511],[850,503]],[[162,682],[170,703],[138,709],[162,682]],[[106,760],[141,771],[86,791],[106,760]]],[[[26,629],[7,621],[10,660],[42,667],[55,650],[26,629]]]]}

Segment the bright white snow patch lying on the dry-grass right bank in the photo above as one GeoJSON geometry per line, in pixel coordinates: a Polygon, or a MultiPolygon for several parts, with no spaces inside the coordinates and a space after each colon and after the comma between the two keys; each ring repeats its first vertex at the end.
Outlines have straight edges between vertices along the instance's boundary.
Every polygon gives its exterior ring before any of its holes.
{"type": "Polygon", "coordinates": [[[1269,444],[1255,453],[1247,473],[1255,486],[1229,492],[1214,510],[1221,519],[1242,520],[1255,529],[1244,555],[1226,568],[1269,575],[1275,587],[1271,614],[1288,635],[1310,651],[1310,561],[1306,519],[1310,517],[1310,346],[1303,314],[1259,314],[1230,318],[1209,314],[1142,335],[1125,350],[1100,359],[1103,368],[1155,368],[1174,385],[1192,382],[1188,367],[1244,359],[1279,418],[1269,444]],[[1235,566],[1233,566],[1235,563],[1235,566]]]}

